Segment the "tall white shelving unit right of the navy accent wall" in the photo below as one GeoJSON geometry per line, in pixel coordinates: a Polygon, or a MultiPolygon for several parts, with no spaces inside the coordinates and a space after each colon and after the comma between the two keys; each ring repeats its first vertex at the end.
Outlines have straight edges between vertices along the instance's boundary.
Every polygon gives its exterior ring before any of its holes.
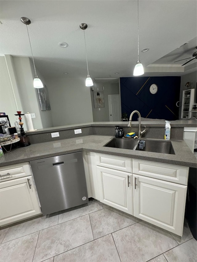
{"type": "Polygon", "coordinates": [[[195,89],[183,90],[181,118],[191,118],[197,115],[197,111],[193,111],[195,89]]]}

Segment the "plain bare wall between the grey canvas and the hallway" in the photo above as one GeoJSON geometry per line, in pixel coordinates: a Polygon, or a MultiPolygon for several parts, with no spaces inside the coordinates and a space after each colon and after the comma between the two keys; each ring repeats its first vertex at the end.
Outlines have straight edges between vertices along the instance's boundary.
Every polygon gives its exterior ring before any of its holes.
{"type": "Polygon", "coordinates": [[[84,78],[46,80],[53,125],[63,126],[93,122],[90,88],[84,78]]]}

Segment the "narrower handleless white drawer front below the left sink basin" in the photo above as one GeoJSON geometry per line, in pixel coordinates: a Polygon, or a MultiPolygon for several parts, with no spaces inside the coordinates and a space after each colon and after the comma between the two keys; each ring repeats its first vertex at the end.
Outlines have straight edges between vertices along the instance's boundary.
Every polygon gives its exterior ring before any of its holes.
{"type": "Polygon", "coordinates": [[[96,165],[129,173],[132,172],[131,158],[112,156],[107,154],[96,154],[96,165]]]}

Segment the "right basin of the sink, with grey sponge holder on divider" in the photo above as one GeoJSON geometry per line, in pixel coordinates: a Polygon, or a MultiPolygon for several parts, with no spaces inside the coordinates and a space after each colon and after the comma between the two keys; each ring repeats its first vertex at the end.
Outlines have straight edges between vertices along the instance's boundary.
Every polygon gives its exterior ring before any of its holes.
{"type": "Polygon", "coordinates": [[[139,145],[138,145],[135,150],[163,153],[163,154],[175,154],[171,141],[157,141],[157,140],[147,140],[147,139],[141,139],[141,140],[145,141],[145,147],[143,149],[139,149],[139,145]]]}

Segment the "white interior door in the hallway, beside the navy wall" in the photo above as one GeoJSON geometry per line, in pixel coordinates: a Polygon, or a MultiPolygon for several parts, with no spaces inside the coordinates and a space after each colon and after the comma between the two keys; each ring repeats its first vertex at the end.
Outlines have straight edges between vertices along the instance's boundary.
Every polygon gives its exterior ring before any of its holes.
{"type": "Polygon", "coordinates": [[[110,122],[121,121],[120,95],[108,95],[110,122]]]}

